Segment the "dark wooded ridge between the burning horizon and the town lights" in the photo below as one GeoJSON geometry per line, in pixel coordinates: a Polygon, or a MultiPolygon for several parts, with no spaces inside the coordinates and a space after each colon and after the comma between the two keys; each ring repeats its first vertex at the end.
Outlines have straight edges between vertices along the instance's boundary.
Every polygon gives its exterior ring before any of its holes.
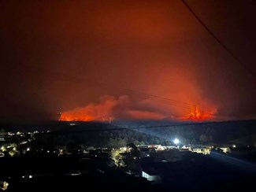
{"type": "MultiPolygon", "coordinates": [[[[227,144],[244,138],[244,145],[254,145],[256,120],[184,123],[170,121],[134,121],[113,122],[59,122],[54,126],[45,126],[53,130],[44,137],[72,139],[84,146],[119,147],[134,142],[135,145],[172,144],[174,137],[179,137],[183,144],[227,144]],[[76,124],[70,126],[70,124],[76,124]],[[171,125],[171,126],[168,126],[171,125]],[[55,131],[54,131],[55,130],[55,131]]],[[[231,143],[232,144],[232,143],[231,143]]]]}

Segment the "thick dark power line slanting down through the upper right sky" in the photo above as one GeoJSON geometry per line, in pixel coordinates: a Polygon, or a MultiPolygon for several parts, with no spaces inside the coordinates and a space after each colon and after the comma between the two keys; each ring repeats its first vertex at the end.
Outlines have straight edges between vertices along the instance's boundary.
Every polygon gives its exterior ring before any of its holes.
{"type": "Polygon", "coordinates": [[[251,76],[255,78],[256,74],[254,74],[254,72],[252,72],[250,68],[247,68],[245,65],[243,65],[243,62],[239,59],[239,57],[236,57],[236,54],[234,54],[232,50],[229,50],[228,46],[225,46],[224,43],[221,42],[221,39],[218,39],[217,36],[214,35],[213,31],[211,31],[210,28],[208,28],[206,24],[198,17],[198,15],[191,9],[191,7],[187,4],[186,0],[181,1],[184,3],[184,6],[186,6],[187,9],[192,13],[195,19],[198,20],[202,27],[205,28],[206,31],[213,37],[213,39],[215,39],[222,46],[222,48],[224,48],[224,50],[226,50],[228,54],[230,54],[236,60],[236,62],[243,67],[243,69],[245,69],[248,73],[250,73],[251,76]]]}

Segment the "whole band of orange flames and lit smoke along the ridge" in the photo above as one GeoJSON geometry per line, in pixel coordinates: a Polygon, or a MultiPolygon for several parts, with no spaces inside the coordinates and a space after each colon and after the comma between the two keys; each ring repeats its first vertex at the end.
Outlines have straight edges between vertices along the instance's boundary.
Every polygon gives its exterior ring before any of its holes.
{"type": "Polygon", "coordinates": [[[185,111],[179,111],[175,114],[175,109],[164,109],[166,105],[158,105],[157,103],[133,102],[128,96],[114,98],[113,96],[105,96],[100,98],[99,102],[88,104],[84,107],[72,109],[64,113],[60,113],[59,120],[64,121],[104,121],[112,122],[115,120],[213,120],[217,112],[210,102],[202,102],[203,106],[207,106],[207,110],[198,106],[191,107],[191,113],[187,115],[185,111]],[[150,108],[151,106],[151,108],[150,108]],[[209,110],[210,109],[210,110],[209,110]],[[179,117],[181,116],[181,117],[179,117]]]}

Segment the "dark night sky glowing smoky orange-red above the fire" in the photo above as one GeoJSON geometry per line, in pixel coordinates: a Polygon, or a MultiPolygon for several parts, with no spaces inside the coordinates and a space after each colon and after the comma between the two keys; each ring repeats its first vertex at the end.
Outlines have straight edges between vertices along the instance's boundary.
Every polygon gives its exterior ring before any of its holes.
{"type": "MultiPolygon", "coordinates": [[[[187,4],[241,64],[179,0],[1,0],[0,120],[51,119],[125,94],[95,81],[214,108],[216,120],[255,118],[256,2],[187,4]]],[[[148,102],[133,112],[185,113],[148,102]]]]}

